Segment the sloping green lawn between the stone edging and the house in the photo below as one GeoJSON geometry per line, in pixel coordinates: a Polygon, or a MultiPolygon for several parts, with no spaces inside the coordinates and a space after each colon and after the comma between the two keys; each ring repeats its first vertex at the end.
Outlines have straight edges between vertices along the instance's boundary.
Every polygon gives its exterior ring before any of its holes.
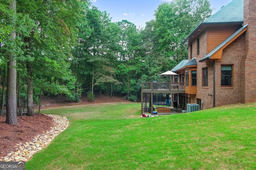
{"type": "Polygon", "coordinates": [[[140,119],[140,104],[44,109],[69,127],[26,170],[256,169],[256,104],[140,119]]]}

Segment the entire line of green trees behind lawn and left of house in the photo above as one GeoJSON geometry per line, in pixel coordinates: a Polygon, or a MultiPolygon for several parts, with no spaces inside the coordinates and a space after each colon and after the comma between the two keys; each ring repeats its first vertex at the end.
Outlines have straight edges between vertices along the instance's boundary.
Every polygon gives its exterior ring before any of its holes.
{"type": "Polygon", "coordinates": [[[175,0],[137,29],[89,0],[0,4],[0,114],[6,106],[8,124],[18,123],[17,108],[33,116],[36,102],[40,113],[42,95],[78,102],[97,91],[137,101],[141,82],[164,81],[160,73],[187,59],[182,41],[212,12],[208,0],[175,0]]]}

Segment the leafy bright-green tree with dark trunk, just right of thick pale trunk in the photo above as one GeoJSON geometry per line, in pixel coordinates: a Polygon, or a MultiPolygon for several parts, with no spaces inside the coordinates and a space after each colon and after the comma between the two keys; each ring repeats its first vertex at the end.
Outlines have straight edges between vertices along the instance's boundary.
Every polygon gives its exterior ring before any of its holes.
{"type": "MultiPolygon", "coordinates": [[[[79,0],[19,1],[18,11],[31,16],[37,24],[36,28],[30,30],[30,36],[23,37],[28,56],[28,60],[26,60],[28,115],[34,115],[33,76],[37,71],[35,61],[40,61],[36,58],[46,57],[44,54],[51,51],[50,58],[52,60],[60,61],[60,63],[64,61],[62,64],[68,64],[68,58],[71,58],[71,47],[74,46],[77,38],[76,26],[81,18],[82,6],[86,3],[86,1],[79,0]]],[[[62,75],[67,74],[63,73],[62,75]]],[[[56,81],[56,83],[60,83],[60,81],[56,81]]],[[[63,88],[60,89],[62,90],[59,92],[68,92],[63,88]]],[[[68,92],[68,94],[70,93],[68,92]]]]}

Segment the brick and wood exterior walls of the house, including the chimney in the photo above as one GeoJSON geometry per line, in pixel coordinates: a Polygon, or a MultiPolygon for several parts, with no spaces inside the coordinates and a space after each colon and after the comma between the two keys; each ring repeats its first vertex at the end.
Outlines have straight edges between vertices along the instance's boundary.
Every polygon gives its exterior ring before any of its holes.
{"type": "Polygon", "coordinates": [[[213,101],[214,64],[212,63],[214,59],[202,63],[198,61],[240,29],[242,25],[208,25],[199,35],[188,40],[188,56],[192,51],[192,58],[195,57],[198,62],[196,95],[185,94],[190,103],[196,103],[197,99],[200,99],[203,102],[203,109],[208,109],[213,106],[256,102],[256,0],[244,0],[243,25],[247,25],[247,31],[225,47],[220,53],[221,58],[215,60],[215,104],[213,101]],[[198,38],[200,38],[199,55],[197,55],[196,41],[198,38]],[[190,50],[190,44],[192,44],[192,50],[190,50]],[[221,86],[222,65],[232,65],[232,87],[221,86]],[[202,69],[206,67],[208,68],[208,86],[203,87],[202,69]]]}

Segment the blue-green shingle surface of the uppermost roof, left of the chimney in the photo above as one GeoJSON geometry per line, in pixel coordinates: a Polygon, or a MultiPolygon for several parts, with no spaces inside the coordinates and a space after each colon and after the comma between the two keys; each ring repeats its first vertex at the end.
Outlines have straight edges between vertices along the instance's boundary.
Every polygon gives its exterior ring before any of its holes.
{"type": "Polygon", "coordinates": [[[244,0],[232,0],[203,23],[226,23],[244,21],[244,0]]]}

